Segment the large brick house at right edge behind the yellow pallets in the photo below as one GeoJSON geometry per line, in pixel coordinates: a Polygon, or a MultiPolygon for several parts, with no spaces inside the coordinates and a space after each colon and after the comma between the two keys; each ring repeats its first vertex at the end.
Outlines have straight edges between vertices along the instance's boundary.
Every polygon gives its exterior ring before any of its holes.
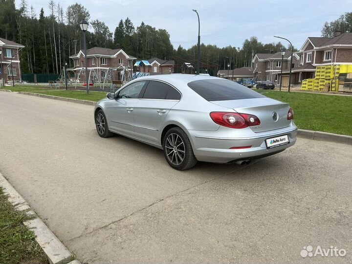
{"type": "MultiPolygon", "coordinates": [[[[292,69],[291,84],[299,85],[302,80],[315,77],[316,66],[352,65],[352,33],[341,34],[337,30],[333,38],[309,37],[296,54],[300,60],[299,66],[292,69]]],[[[287,70],[283,72],[285,77],[288,80],[287,70]]]]}

